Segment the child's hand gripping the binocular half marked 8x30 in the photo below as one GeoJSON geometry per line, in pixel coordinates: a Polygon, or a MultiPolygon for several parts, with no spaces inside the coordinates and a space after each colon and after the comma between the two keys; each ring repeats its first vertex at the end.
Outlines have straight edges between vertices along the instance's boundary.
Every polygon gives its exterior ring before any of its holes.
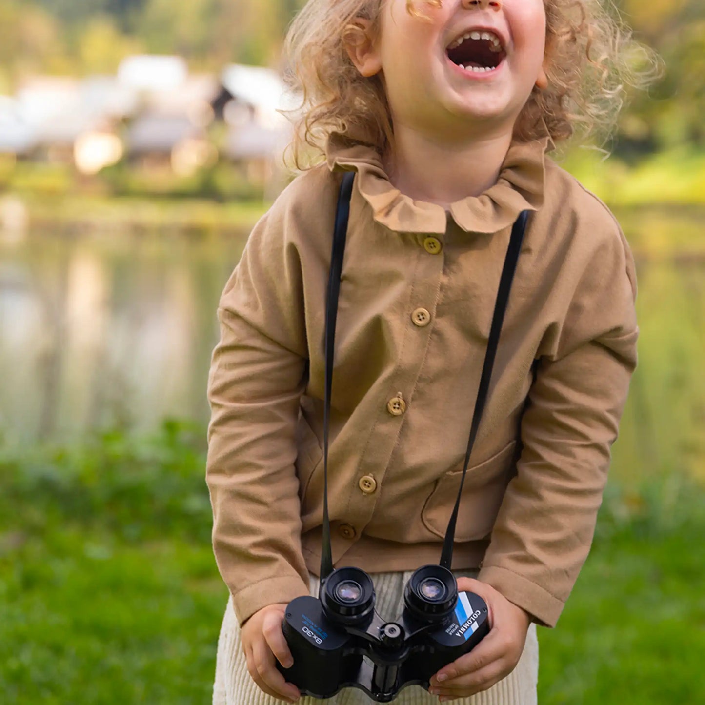
{"type": "Polygon", "coordinates": [[[294,662],[284,639],[281,623],[286,604],[263,607],[250,617],[240,630],[240,640],[247,658],[247,670],[260,690],[275,698],[295,701],[301,697],[298,688],[287,683],[276,670],[274,658],[285,668],[294,662]]]}

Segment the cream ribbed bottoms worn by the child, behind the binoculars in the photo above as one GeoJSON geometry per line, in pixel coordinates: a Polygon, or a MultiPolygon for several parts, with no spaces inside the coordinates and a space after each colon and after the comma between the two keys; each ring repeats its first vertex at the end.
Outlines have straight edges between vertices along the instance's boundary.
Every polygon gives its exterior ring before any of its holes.
{"type": "MultiPolygon", "coordinates": [[[[454,572],[458,577],[477,577],[477,570],[454,572]]],[[[370,574],[376,591],[376,610],[383,618],[392,620],[402,613],[403,590],[411,575],[412,571],[370,574]]],[[[312,595],[318,594],[318,577],[310,577],[309,588],[312,595]]],[[[458,705],[537,705],[538,680],[539,642],[536,625],[532,624],[520,661],[512,673],[489,690],[452,702],[458,705]]],[[[394,702],[400,705],[435,705],[438,701],[437,696],[431,695],[418,685],[412,685],[403,689],[394,702]]],[[[218,639],[213,705],[279,705],[283,702],[285,701],[264,694],[250,678],[240,644],[238,620],[235,618],[233,604],[228,600],[218,639]]],[[[326,700],[305,696],[298,701],[300,705],[367,705],[372,702],[372,699],[357,688],[345,688],[326,700]]]]}

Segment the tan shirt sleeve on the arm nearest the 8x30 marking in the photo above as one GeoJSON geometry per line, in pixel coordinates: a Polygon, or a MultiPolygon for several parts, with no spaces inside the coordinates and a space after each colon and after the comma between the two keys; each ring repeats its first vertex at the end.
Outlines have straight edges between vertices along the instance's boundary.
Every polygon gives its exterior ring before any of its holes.
{"type": "Polygon", "coordinates": [[[240,625],[309,594],[294,465],[307,344],[292,227],[275,204],[252,231],[219,302],[209,373],[213,548],[240,625]]]}

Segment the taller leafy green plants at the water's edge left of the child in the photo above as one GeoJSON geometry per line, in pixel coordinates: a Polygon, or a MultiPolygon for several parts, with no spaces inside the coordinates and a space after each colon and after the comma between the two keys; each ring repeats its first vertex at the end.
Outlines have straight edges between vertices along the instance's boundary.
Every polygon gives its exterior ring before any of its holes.
{"type": "Polygon", "coordinates": [[[70,522],[99,525],[121,541],[166,532],[207,542],[204,467],[204,433],[192,425],[166,421],[147,439],[105,431],[81,446],[0,459],[0,483],[8,483],[0,492],[0,515],[29,532],[70,522]]]}

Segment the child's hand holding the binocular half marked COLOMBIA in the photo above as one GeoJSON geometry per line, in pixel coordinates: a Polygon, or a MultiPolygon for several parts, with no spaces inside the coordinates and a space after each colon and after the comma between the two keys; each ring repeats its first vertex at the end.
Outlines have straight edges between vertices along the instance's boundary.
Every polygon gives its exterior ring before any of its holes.
{"type": "Polygon", "coordinates": [[[470,654],[443,666],[431,678],[431,693],[440,695],[441,701],[474,695],[508,676],[519,663],[531,624],[527,612],[491,585],[460,577],[458,591],[463,590],[478,594],[487,603],[491,629],[470,654]]]}

